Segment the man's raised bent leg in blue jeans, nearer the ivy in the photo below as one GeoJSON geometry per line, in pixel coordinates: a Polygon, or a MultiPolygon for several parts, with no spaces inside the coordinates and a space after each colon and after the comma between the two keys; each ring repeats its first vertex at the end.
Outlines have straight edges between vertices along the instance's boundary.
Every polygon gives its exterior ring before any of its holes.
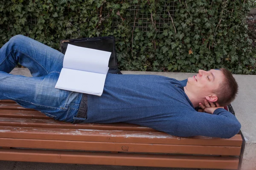
{"type": "Polygon", "coordinates": [[[33,77],[60,72],[64,55],[36,40],[23,35],[12,37],[0,49],[0,71],[9,73],[19,62],[28,68],[33,77]]]}

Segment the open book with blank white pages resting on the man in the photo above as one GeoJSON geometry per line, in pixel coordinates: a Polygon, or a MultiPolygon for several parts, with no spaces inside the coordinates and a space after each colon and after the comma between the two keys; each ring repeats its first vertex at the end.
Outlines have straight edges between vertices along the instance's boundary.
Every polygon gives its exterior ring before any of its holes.
{"type": "Polygon", "coordinates": [[[55,88],[101,96],[111,52],[68,44],[55,88]]]}

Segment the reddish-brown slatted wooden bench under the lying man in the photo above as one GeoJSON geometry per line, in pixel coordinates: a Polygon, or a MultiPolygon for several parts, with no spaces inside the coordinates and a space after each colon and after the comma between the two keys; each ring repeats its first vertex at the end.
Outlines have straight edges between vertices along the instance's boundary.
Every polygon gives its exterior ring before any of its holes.
{"type": "Polygon", "coordinates": [[[148,127],[71,124],[0,101],[0,160],[238,169],[242,137],[181,138],[148,127]]]}

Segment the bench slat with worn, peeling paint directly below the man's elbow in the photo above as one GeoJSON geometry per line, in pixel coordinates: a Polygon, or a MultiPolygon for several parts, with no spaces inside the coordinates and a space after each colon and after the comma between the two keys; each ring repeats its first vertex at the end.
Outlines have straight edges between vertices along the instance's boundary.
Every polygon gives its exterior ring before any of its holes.
{"type": "Polygon", "coordinates": [[[20,139],[52,139],[93,142],[127,142],[152,144],[193,144],[212,146],[241,146],[241,135],[230,139],[204,136],[181,138],[163,132],[136,132],[123,130],[59,129],[41,127],[0,126],[0,137],[20,139]]]}

